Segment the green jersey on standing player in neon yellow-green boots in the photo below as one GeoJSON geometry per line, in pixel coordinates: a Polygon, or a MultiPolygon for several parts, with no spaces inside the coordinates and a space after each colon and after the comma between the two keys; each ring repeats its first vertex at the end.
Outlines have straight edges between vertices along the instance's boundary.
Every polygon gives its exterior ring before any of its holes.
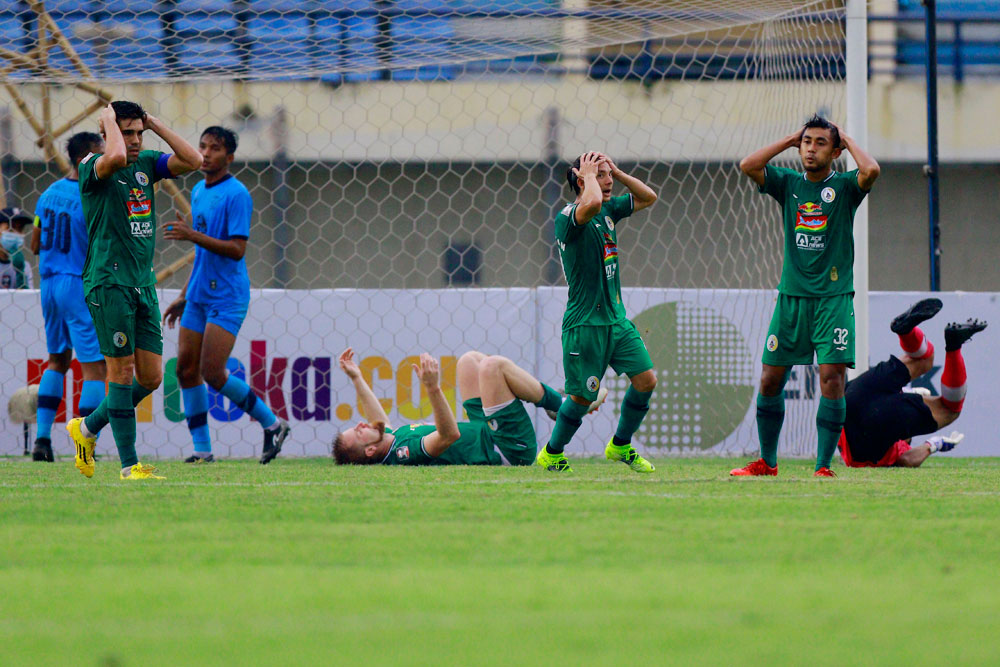
{"type": "Polygon", "coordinates": [[[612,197],[583,225],[576,224],[576,207],[567,204],[556,216],[556,245],[569,285],[563,331],[625,319],[615,226],[635,210],[632,195],[612,197]]]}

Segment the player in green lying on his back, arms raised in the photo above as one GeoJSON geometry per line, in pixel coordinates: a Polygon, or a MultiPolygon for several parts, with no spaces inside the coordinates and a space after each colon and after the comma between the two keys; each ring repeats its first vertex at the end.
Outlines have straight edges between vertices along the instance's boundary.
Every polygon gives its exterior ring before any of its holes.
{"type": "MultiPolygon", "coordinates": [[[[470,421],[458,422],[438,384],[437,360],[423,354],[414,369],[430,399],[434,424],[393,428],[354,363],[353,350],[344,350],[339,361],[368,416],[334,439],[333,457],[341,464],[531,465],[537,449],[535,428],[522,401],[552,412],[562,403],[556,390],[510,359],[466,352],[458,360],[457,374],[470,421]]],[[[591,406],[598,407],[600,402],[591,406]]]]}

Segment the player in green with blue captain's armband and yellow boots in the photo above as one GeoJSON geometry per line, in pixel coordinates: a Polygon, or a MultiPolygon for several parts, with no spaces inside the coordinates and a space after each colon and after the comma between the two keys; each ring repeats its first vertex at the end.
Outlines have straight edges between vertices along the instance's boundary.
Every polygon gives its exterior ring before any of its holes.
{"type": "Polygon", "coordinates": [[[156,244],[153,184],[201,166],[198,149],[134,102],[101,111],[103,154],[80,161],[80,194],[87,219],[83,289],[97,341],[108,366],[108,395],[86,418],[66,430],[76,445],[76,467],[94,475],[94,444],[108,423],[121,459],[121,479],[163,479],[135,452],[135,406],[163,379],[163,334],[153,285],[156,244]],[[151,130],[173,154],[142,150],[151,130]]]}

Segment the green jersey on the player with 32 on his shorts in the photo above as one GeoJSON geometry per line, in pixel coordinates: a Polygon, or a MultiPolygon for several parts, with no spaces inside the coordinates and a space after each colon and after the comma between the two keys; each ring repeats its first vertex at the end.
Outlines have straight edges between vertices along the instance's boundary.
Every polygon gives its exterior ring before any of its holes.
{"type": "Polygon", "coordinates": [[[835,296],[854,291],[854,213],[868,193],[858,171],[831,171],[819,183],[792,169],[764,170],[764,194],[781,204],[785,261],[778,291],[835,296]]]}

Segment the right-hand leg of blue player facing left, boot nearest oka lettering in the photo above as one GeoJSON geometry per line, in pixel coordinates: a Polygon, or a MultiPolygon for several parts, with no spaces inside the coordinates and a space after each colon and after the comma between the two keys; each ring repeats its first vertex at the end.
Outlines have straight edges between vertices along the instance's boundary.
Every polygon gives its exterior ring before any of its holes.
{"type": "Polygon", "coordinates": [[[211,387],[260,422],[264,428],[260,462],[267,464],[281,452],[281,446],[291,427],[288,422],[275,416],[250,385],[226,371],[229,353],[236,343],[236,334],[243,326],[246,313],[246,304],[230,307],[213,304],[208,308],[205,336],[201,344],[201,373],[211,387]]]}

